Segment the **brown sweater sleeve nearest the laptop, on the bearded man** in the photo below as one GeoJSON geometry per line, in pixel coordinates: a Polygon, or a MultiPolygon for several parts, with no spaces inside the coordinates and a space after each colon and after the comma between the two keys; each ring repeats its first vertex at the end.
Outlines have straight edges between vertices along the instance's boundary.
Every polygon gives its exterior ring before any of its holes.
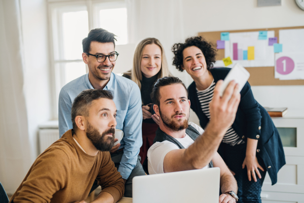
{"type": "Polygon", "coordinates": [[[101,192],[107,192],[117,202],[123,197],[125,184],[121,174],[117,171],[114,162],[111,160],[110,153],[103,153],[100,172],[97,176],[98,185],[101,186],[101,192]]]}

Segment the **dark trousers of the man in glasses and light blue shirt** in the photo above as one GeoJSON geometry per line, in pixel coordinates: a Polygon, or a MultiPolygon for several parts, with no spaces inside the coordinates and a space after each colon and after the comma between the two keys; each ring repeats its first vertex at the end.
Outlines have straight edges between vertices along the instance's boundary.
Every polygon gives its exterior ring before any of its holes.
{"type": "MultiPolygon", "coordinates": [[[[120,151],[120,152],[111,154],[111,159],[114,162],[115,167],[117,169],[120,165],[120,161],[122,160],[123,154],[124,154],[124,151],[120,151]]],[[[142,165],[140,163],[140,156],[138,156],[136,165],[133,168],[133,170],[125,184],[125,194],[124,194],[125,197],[132,197],[132,179],[135,176],[144,176],[144,175],[145,175],[145,173],[144,173],[142,165]]],[[[98,186],[99,185],[97,184],[97,180],[95,180],[90,193],[92,191],[94,191],[98,186]]]]}

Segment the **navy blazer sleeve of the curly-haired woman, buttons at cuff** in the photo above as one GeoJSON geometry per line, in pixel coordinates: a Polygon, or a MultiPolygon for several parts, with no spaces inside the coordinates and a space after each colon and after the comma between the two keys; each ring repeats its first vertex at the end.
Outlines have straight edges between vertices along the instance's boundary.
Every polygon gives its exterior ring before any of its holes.
{"type": "Polygon", "coordinates": [[[241,101],[239,108],[246,117],[246,134],[247,138],[258,140],[260,136],[261,114],[259,105],[254,99],[251,87],[248,82],[241,91],[241,101]]]}

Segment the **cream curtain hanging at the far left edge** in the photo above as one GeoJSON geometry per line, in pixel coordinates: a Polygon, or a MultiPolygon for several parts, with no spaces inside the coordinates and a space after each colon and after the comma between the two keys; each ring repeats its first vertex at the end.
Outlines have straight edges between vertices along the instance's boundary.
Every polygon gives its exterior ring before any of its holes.
{"type": "Polygon", "coordinates": [[[0,0],[0,182],[13,194],[31,165],[18,0],[0,0]]]}

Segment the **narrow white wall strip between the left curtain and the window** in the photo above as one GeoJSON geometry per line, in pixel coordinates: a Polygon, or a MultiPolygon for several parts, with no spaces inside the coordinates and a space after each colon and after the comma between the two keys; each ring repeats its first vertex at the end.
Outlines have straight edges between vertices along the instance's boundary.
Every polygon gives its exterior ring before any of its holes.
{"type": "MultiPolygon", "coordinates": [[[[48,21],[45,0],[21,0],[28,134],[32,162],[38,155],[38,125],[51,119],[48,21]]],[[[25,175],[25,174],[24,174],[25,175]]]]}

